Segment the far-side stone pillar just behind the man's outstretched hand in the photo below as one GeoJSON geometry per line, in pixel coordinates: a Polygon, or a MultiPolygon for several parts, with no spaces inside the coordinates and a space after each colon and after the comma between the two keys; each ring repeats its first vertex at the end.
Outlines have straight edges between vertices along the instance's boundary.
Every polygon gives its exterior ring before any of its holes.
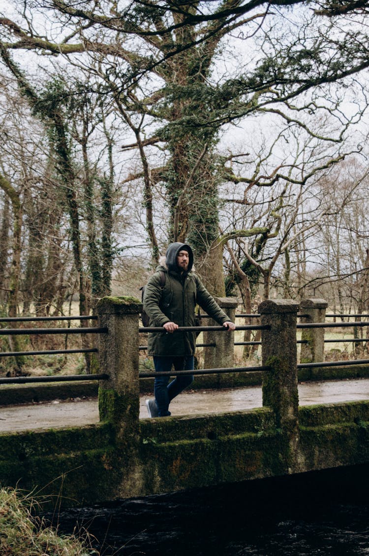
{"type": "MultiPolygon", "coordinates": [[[[235,321],[237,300],[234,297],[215,297],[215,301],[229,316],[232,322],[235,321]]],[[[213,319],[206,319],[202,322],[204,326],[219,326],[213,319]]],[[[225,369],[234,365],[234,331],[224,332],[204,332],[204,344],[215,344],[215,347],[204,348],[204,368],[205,369],[225,369]]],[[[221,381],[224,375],[218,375],[221,381]]]]}

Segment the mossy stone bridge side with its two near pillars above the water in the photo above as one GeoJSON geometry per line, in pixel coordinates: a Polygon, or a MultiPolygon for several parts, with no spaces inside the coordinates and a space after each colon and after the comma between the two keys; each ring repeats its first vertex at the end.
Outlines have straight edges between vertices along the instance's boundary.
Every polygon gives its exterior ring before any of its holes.
{"type": "Polygon", "coordinates": [[[99,373],[109,375],[100,422],[0,434],[2,485],[80,505],[369,463],[369,401],[299,407],[295,301],[259,306],[262,408],[141,420],[140,309],[127,297],[97,306],[108,329],[98,346],[99,373]]]}

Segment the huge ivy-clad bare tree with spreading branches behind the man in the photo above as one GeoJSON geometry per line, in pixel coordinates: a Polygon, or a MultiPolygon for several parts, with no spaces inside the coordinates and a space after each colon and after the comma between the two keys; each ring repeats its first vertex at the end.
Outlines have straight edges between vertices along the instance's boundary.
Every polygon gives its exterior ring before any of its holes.
{"type": "MultiPolygon", "coordinates": [[[[339,18],[326,18],[335,13],[332,6],[322,9],[316,4],[312,6],[316,11],[307,16],[304,3],[287,2],[295,3],[300,4],[299,10],[290,14],[289,26],[283,14],[279,18],[271,13],[273,2],[177,6],[137,1],[123,8],[104,2],[90,9],[68,2],[47,6],[40,2],[40,11],[52,9],[59,22],[56,41],[48,29],[39,31],[27,3],[19,13],[20,23],[6,17],[1,20],[5,51],[42,49],[65,57],[79,72],[95,75],[99,86],[92,88],[113,99],[133,130],[133,142],[124,146],[140,152],[153,259],[159,249],[153,191],[161,182],[169,206],[169,239],[191,241],[200,274],[220,295],[224,286],[221,280],[214,286],[214,266],[209,264],[216,252],[216,272],[221,272],[218,187],[224,176],[216,171],[215,156],[219,129],[250,115],[276,117],[328,145],[340,145],[362,112],[358,106],[354,115],[345,116],[337,87],[331,84],[367,67],[357,47],[365,40],[365,26],[355,34],[347,26],[340,27],[339,18]],[[225,39],[236,29],[252,54],[236,75],[229,71],[217,75],[215,61],[226,47],[225,39]],[[318,134],[310,125],[311,116],[321,119],[327,113],[335,117],[336,132],[318,134]],[[155,147],[164,150],[166,157],[150,168],[147,150],[155,147]]],[[[355,17],[356,6],[348,9],[355,17]]],[[[365,91],[362,94],[365,97],[365,91]]],[[[342,156],[328,152],[316,161],[316,170],[337,163],[342,156]]],[[[250,175],[244,176],[250,187],[274,187],[286,180],[304,185],[316,171],[310,167],[296,178],[287,164],[262,172],[261,158],[250,175]]]]}

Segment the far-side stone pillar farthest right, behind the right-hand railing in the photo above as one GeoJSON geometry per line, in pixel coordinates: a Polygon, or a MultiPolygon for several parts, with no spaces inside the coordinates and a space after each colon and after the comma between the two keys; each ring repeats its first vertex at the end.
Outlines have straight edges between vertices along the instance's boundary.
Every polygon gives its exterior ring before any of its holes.
{"type": "MultiPolygon", "coordinates": [[[[325,322],[327,306],[327,301],[318,297],[302,300],[300,312],[306,316],[301,317],[301,322],[325,322]]],[[[323,328],[303,328],[301,340],[307,343],[301,344],[300,363],[320,363],[324,360],[323,328]]]]}

